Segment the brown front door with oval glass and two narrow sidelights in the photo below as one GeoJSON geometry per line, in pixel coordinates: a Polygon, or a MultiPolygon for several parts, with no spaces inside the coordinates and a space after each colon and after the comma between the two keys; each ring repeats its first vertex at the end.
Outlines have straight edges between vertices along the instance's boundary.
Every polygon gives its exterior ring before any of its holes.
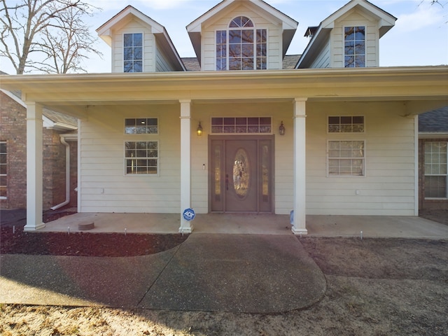
{"type": "Polygon", "coordinates": [[[273,136],[210,137],[210,211],[272,213],[273,136]]]}

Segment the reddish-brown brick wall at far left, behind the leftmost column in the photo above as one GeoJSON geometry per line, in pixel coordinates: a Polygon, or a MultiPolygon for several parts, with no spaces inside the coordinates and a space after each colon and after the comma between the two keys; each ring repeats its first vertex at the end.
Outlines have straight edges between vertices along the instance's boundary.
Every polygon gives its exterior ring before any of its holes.
{"type": "MultiPolygon", "coordinates": [[[[25,209],[27,207],[27,110],[3,92],[0,92],[0,141],[8,146],[7,199],[0,200],[2,209],[25,209]]],[[[76,141],[71,149],[71,186],[76,188],[76,141]]],[[[74,191],[73,191],[74,193],[74,191]]],[[[65,200],[65,146],[59,132],[43,129],[43,209],[65,200]]],[[[76,207],[76,194],[71,205],[76,207]]]]}

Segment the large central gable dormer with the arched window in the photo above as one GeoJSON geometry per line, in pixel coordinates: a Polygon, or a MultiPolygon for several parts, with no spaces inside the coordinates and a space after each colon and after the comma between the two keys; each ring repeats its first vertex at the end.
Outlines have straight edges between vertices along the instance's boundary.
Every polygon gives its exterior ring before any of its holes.
{"type": "Polygon", "coordinates": [[[261,0],[224,0],[187,26],[202,71],[282,69],[297,22],[261,0]]]}

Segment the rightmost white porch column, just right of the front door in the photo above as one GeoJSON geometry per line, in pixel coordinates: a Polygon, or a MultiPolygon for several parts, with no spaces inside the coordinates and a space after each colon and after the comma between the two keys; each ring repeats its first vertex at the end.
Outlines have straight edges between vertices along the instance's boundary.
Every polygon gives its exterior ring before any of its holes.
{"type": "Polygon", "coordinates": [[[307,235],[305,226],[305,106],[307,98],[294,99],[294,221],[293,233],[307,235]]]}

